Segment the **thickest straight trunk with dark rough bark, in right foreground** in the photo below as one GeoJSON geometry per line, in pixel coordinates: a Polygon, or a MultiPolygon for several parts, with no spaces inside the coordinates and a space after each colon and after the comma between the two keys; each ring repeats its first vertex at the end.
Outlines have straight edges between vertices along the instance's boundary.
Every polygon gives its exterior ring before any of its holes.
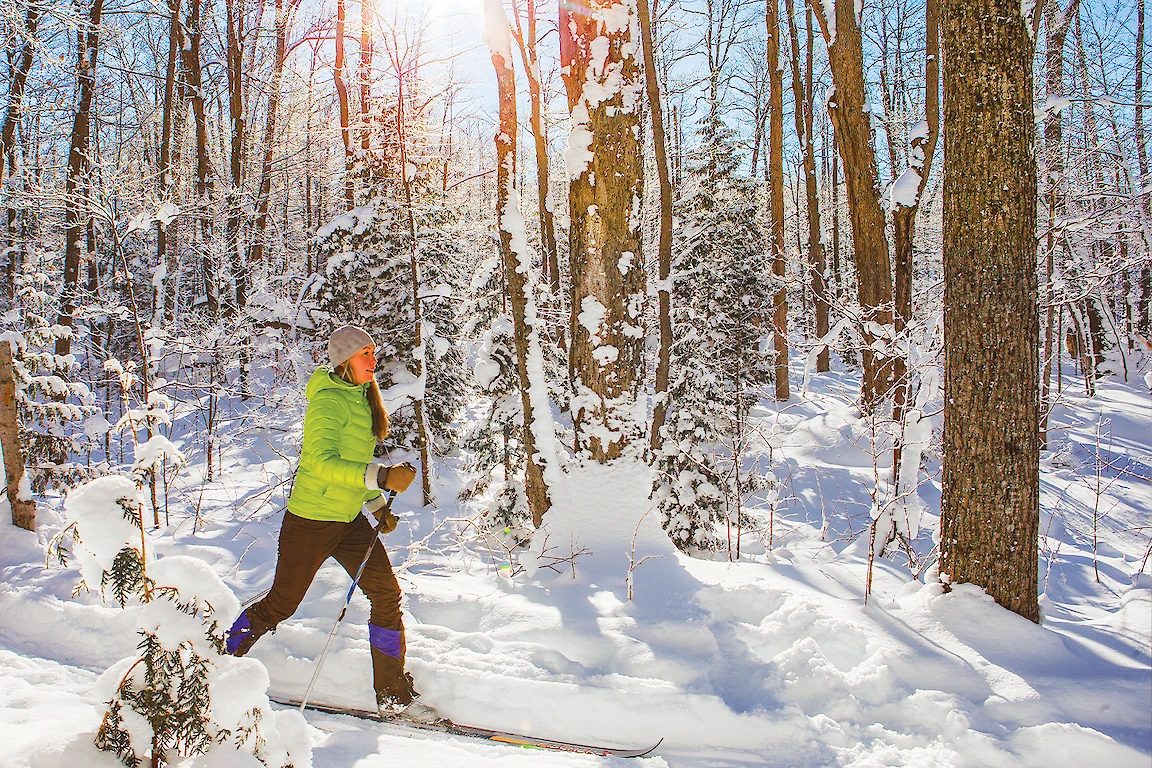
{"type": "Polygon", "coordinates": [[[1032,40],[1015,0],[945,0],[940,575],[1033,622],[1039,306],[1032,40]]]}

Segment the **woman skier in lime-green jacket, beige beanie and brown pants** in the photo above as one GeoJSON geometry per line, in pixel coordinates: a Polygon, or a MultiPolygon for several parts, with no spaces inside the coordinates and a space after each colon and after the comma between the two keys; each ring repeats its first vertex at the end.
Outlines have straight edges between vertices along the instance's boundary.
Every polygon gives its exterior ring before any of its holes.
{"type": "MultiPolygon", "coordinates": [[[[404,671],[400,585],[372,524],[361,515],[365,502],[381,505],[381,489],[408,488],[416,470],[408,463],[388,466],[373,459],[377,441],[388,434],[388,415],[376,382],[372,337],[355,326],[339,328],[328,339],[328,359],[332,365],[317,368],[305,390],[304,443],[280,527],[272,588],[228,630],[227,649],[243,656],[262,634],[291,616],[328,557],[355,576],[372,542],[359,588],[372,603],[367,630],[377,705],[386,717],[434,721],[435,710],[416,701],[412,678],[404,671]]],[[[396,527],[396,518],[388,516],[386,533],[396,527]]]]}

